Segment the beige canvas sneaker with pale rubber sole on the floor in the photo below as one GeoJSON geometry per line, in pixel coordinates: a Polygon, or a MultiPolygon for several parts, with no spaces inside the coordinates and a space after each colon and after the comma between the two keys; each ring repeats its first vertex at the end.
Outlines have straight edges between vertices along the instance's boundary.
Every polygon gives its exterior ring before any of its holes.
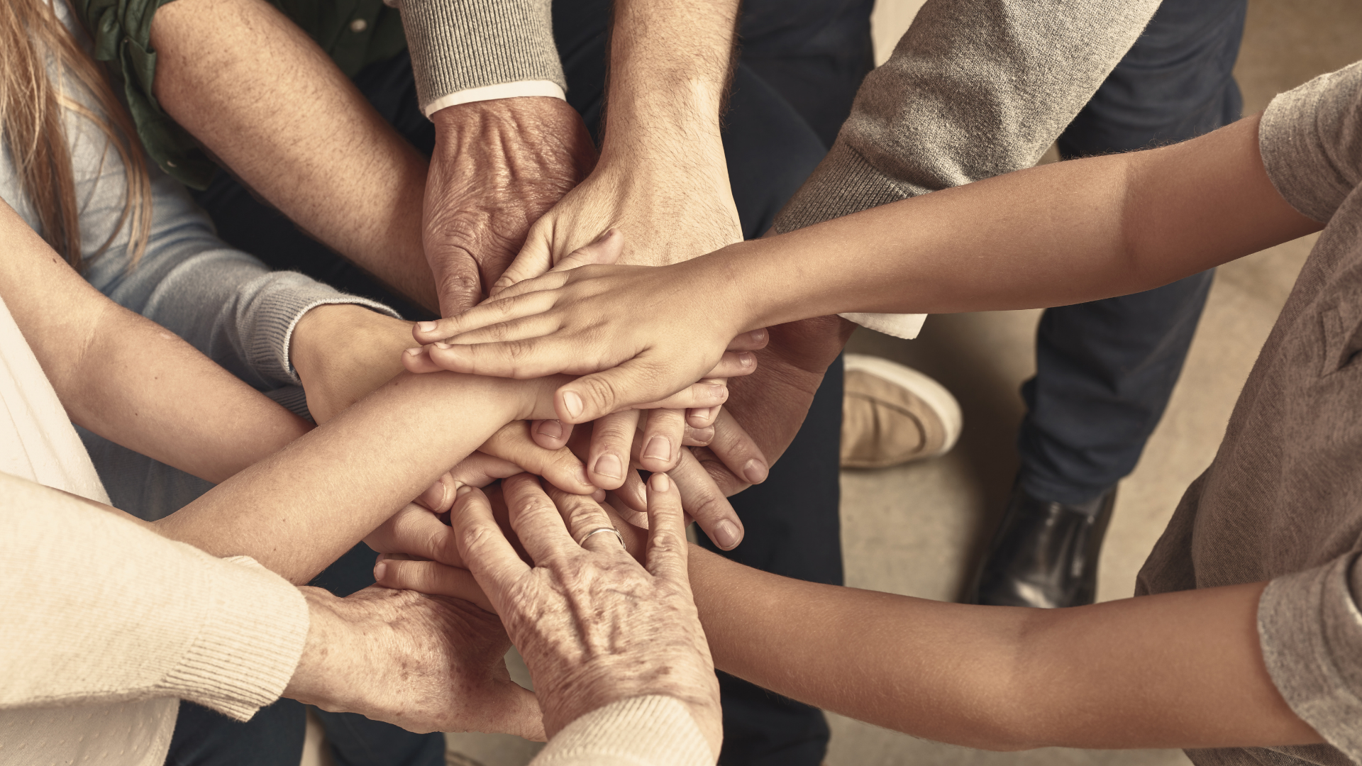
{"type": "Polygon", "coordinates": [[[887,358],[846,356],[842,468],[944,455],[960,438],[960,405],[936,380],[887,358]]]}

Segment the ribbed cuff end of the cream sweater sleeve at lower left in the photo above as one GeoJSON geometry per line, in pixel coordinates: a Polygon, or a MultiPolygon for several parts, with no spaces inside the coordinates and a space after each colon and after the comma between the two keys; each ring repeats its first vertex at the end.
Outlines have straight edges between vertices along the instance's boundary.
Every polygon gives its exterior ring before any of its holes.
{"type": "Polygon", "coordinates": [[[247,556],[223,560],[203,598],[203,630],[158,691],[247,721],[289,686],[308,638],[308,604],[247,556]]]}

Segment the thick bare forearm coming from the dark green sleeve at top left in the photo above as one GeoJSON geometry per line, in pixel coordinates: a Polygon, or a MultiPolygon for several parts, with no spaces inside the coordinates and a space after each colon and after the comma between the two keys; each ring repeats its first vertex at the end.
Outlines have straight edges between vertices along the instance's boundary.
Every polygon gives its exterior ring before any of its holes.
{"type": "Polygon", "coordinates": [[[157,11],[155,95],[296,224],[428,307],[425,161],[306,34],[259,0],[157,11]]]}

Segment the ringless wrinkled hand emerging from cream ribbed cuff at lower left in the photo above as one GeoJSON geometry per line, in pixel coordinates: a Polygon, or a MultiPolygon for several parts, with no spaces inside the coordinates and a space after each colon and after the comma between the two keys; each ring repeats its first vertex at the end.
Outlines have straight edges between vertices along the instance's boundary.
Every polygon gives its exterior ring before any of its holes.
{"type": "Polygon", "coordinates": [[[336,598],[300,587],[308,639],[283,696],[410,732],[504,732],[543,740],[539,705],[511,680],[496,615],[411,590],[336,598]]]}

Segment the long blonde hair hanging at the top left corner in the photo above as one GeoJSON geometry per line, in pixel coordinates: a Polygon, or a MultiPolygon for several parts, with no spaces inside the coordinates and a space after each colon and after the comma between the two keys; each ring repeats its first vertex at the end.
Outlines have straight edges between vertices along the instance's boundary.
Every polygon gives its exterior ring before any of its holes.
{"type": "MultiPolygon", "coordinates": [[[[61,3],[64,0],[50,0],[61,3]]],[[[0,0],[0,131],[23,191],[38,214],[39,233],[80,271],[80,210],[63,112],[90,120],[118,153],[128,180],[123,214],[94,256],[128,228],[129,266],[146,252],[151,233],[151,180],[128,112],[105,71],[57,18],[49,0],[0,0]],[[49,72],[56,72],[53,76],[49,72]],[[94,109],[67,93],[75,83],[94,109]]],[[[105,147],[108,153],[108,147],[105,147]]],[[[91,256],[93,258],[93,256],[91,256]]]]}

